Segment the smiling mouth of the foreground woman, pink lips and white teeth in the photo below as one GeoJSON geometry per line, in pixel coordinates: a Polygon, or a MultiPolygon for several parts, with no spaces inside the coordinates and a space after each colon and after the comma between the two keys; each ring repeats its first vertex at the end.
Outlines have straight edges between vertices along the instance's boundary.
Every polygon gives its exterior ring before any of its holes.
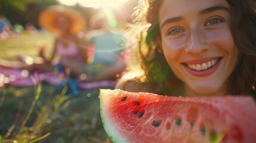
{"type": "Polygon", "coordinates": [[[209,76],[217,70],[221,58],[205,58],[203,60],[186,61],[183,66],[194,76],[209,76]]]}

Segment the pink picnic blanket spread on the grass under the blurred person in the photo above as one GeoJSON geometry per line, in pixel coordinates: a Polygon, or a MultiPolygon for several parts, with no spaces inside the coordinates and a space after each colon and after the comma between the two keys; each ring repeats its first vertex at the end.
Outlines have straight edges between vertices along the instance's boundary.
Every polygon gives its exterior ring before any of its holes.
{"type": "Polygon", "coordinates": [[[79,82],[72,79],[64,72],[34,72],[30,74],[27,70],[11,69],[0,66],[0,88],[4,86],[34,86],[38,83],[49,83],[50,85],[63,85],[72,81],[77,83],[79,89],[92,89],[103,87],[115,87],[116,80],[101,80],[96,82],[79,82]]]}

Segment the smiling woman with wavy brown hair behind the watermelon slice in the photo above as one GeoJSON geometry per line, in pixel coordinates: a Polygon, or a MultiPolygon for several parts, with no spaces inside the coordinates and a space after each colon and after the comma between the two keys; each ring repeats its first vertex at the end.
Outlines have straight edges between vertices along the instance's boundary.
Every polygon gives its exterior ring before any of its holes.
{"type": "Polygon", "coordinates": [[[140,42],[134,53],[143,72],[125,75],[116,88],[186,97],[255,97],[254,1],[140,2],[133,25],[140,42]],[[144,23],[149,27],[141,28],[144,23]]]}

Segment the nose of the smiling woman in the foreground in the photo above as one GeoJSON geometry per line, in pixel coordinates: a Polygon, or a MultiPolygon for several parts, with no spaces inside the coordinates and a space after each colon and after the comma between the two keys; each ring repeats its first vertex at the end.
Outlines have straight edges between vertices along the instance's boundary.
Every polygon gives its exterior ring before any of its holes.
{"type": "Polygon", "coordinates": [[[189,54],[200,55],[209,49],[206,43],[206,35],[202,30],[191,30],[187,38],[187,46],[185,51],[189,54]]]}

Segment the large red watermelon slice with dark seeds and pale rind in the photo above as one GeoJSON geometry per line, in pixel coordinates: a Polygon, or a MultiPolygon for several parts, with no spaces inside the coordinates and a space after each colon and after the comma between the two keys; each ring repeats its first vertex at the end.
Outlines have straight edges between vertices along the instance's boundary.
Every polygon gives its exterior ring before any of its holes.
{"type": "Polygon", "coordinates": [[[100,89],[100,114],[112,142],[256,142],[256,105],[250,97],[100,89]]]}

